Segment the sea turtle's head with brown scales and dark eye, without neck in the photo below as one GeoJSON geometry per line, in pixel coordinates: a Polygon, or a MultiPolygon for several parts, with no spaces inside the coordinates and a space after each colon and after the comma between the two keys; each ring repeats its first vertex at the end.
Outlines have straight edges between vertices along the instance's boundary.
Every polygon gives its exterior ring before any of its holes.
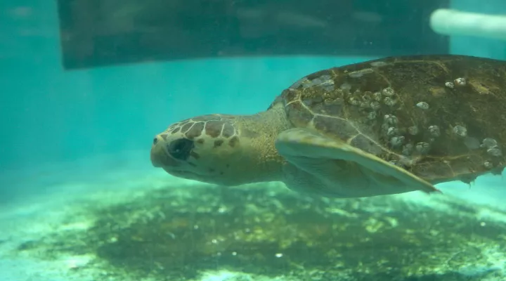
{"type": "Polygon", "coordinates": [[[153,166],[181,178],[235,184],[231,174],[242,155],[235,122],[231,115],[204,115],[172,124],[153,140],[153,166]]]}

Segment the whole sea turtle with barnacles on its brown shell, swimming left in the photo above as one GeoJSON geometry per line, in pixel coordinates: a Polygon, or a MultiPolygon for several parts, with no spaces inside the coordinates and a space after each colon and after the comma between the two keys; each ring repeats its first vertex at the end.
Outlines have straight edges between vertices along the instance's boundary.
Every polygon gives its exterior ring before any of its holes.
{"type": "Polygon", "coordinates": [[[283,181],[325,197],[470,183],[505,166],[506,62],[382,58],[309,74],[256,115],[203,115],[158,134],[151,161],[219,185],[283,181]]]}

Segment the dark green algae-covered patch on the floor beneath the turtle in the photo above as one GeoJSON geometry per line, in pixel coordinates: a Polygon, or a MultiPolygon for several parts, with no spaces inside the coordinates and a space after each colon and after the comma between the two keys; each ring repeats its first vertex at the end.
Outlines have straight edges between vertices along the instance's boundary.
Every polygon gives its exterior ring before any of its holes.
{"type": "Polygon", "coordinates": [[[506,223],[493,216],[502,213],[446,195],[329,200],[276,184],[197,185],[76,204],[65,226],[80,227],[55,226],[13,254],[93,256],[75,270],[93,268],[96,280],[204,280],[220,270],[237,274],[208,279],[506,278],[506,223]]]}

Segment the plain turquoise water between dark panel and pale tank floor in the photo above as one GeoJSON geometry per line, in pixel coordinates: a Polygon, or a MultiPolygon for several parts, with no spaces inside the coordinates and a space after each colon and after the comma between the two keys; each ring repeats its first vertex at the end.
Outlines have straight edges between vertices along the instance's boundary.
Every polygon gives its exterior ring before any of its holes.
{"type": "MultiPolygon", "coordinates": [[[[500,0],[459,0],[453,8],[506,12],[500,0]]],[[[366,59],[192,60],[64,71],[55,1],[5,0],[0,1],[0,11],[4,171],[148,150],[152,136],[178,119],[264,110],[299,77],[366,59]]],[[[469,37],[452,38],[452,52],[506,55],[504,42],[469,37]]]]}

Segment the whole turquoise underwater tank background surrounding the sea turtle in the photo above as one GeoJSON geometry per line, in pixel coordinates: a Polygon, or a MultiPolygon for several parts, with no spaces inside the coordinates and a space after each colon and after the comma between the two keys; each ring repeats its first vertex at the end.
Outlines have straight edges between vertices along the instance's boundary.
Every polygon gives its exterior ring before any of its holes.
{"type": "Polygon", "coordinates": [[[505,30],[453,34],[437,9],[506,17],[500,0],[1,1],[0,280],[506,280],[502,176],[315,200],[150,163],[172,122],[266,110],[324,68],[506,60],[505,30]]]}

